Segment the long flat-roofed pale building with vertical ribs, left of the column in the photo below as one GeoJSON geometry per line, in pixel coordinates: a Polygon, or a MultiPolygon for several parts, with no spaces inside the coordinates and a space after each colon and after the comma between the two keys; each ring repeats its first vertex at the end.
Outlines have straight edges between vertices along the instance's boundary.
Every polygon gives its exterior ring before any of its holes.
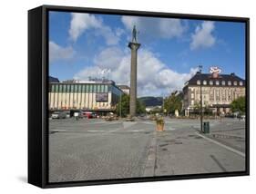
{"type": "Polygon", "coordinates": [[[112,112],[116,109],[123,93],[113,81],[76,80],[49,82],[49,110],[84,110],[94,112],[112,112]]]}

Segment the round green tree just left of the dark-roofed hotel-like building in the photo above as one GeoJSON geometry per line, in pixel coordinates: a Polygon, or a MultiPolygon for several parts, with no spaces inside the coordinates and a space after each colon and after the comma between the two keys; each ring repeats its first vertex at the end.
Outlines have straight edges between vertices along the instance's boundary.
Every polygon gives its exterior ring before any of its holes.
{"type": "Polygon", "coordinates": [[[169,113],[174,113],[175,110],[181,111],[182,98],[180,95],[176,95],[176,92],[170,94],[168,98],[164,100],[164,109],[169,113]]]}

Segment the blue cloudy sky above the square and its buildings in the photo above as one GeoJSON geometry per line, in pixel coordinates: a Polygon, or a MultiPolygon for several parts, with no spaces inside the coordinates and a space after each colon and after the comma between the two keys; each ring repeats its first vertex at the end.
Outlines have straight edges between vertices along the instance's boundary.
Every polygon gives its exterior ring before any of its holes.
{"type": "Polygon", "coordinates": [[[49,74],[129,85],[128,42],[138,29],[138,95],[181,90],[203,66],[245,77],[245,24],[122,15],[49,14],[49,74]]]}

